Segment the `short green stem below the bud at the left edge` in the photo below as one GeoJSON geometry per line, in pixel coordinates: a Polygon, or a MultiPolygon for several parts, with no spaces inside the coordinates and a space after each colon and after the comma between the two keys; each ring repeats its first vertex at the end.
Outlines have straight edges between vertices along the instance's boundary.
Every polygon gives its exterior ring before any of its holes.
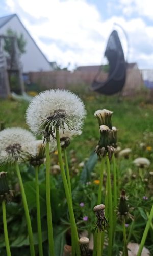
{"type": "Polygon", "coordinates": [[[7,256],[11,256],[9,237],[8,237],[8,228],[7,228],[7,219],[6,219],[5,200],[2,201],[2,211],[3,211],[3,226],[4,226],[4,237],[5,237],[7,256]]]}

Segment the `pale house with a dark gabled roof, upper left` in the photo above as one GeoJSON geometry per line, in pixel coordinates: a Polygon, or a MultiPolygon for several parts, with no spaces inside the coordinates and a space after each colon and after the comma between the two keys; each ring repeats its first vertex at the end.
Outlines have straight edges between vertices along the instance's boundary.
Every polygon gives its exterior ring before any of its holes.
{"type": "Polygon", "coordinates": [[[19,35],[23,34],[27,42],[25,45],[25,53],[21,55],[20,59],[23,73],[53,70],[49,61],[16,14],[0,18],[0,36],[6,35],[8,29],[12,29],[19,35]]]}

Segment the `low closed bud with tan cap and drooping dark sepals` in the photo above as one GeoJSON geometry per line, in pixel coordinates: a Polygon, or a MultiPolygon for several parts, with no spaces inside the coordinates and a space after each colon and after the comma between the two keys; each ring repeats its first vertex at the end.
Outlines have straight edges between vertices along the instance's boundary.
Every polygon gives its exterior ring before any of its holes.
{"type": "Polygon", "coordinates": [[[104,230],[107,226],[107,220],[105,218],[105,205],[104,204],[96,205],[93,208],[93,210],[94,210],[95,215],[97,217],[97,222],[96,222],[95,229],[97,228],[97,231],[104,232],[104,230]]]}

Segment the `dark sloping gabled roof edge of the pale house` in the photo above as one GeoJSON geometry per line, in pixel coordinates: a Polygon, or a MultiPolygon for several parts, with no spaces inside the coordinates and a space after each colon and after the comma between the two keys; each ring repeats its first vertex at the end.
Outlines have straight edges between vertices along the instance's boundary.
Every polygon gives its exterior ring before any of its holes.
{"type": "MultiPolygon", "coordinates": [[[[40,48],[37,46],[36,42],[34,41],[34,39],[32,38],[32,36],[30,35],[30,33],[28,32],[28,30],[24,27],[24,25],[22,24],[21,20],[19,19],[19,17],[17,16],[17,14],[12,14],[12,15],[8,15],[5,17],[1,17],[0,18],[0,28],[3,27],[6,23],[9,22],[10,19],[12,19],[13,17],[17,17],[19,23],[21,24],[21,26],[24,28],[24,30],[28,33],[28,35],[31,37],[31,39],[33,40],[35,46],[38,48],[38,50],[41,52],[41,54],[44,56],[44,58],[46,59],[46,61],[49,63],[48,59],[46,58],[46,56],[43,54],[43,52],[40,50],[40,48]]],[[[50,64],[50,63],[49,63],[50,64]]]]}

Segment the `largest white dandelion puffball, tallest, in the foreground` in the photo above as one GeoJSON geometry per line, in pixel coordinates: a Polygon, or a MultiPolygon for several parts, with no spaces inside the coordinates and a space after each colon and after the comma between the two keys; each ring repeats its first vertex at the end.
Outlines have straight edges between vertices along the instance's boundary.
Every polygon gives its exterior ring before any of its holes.
{"type": "Polygon", "coordinates": [[[33,98],[27,109],[26,121],[34,133],[48,137],[55,132],[55,127],[63,132],[66,125],[69,130],[80,130],[85,114],[84,103],[77,95],[52,89],[33,98]]]}

